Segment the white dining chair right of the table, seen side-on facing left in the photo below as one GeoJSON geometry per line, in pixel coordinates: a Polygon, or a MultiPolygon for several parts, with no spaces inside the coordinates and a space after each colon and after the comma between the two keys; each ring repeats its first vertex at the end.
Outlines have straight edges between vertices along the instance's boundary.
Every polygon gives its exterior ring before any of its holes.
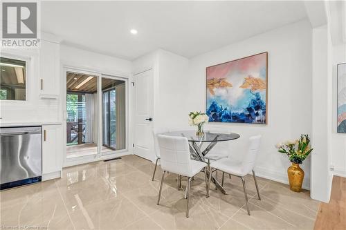
{"type": "MultiPolygon", "coordinates": [[[[246,209],[248,211],[248,215],[250,215],[250,209],[248,208],[248,195],[246,193],[246,184],[245,184],[244,176],[247,175],[248,173],[251,173],[251,171],[253,173],[253,180],[255,180],[258,200],[261,200],[255,171],[253,170],[255,168],[256,157],[260,151],[261,135],[250,137],[249,142],[250,144],[248,146],[248,152],[246,153],[243,162],[236,162],[232,160],[231,158],[223,158],[221,160],[217,160],[215,162],[210,163],[210,169],[217,169],[224,173],[235,175],[242,180],[244,195],[245,195],[245,202],[246,202],[246,209]]],[[[209,176],[208,178],[207,198],[209,197],[210,180],[211,180],[211,176],[209,176]]]]}

